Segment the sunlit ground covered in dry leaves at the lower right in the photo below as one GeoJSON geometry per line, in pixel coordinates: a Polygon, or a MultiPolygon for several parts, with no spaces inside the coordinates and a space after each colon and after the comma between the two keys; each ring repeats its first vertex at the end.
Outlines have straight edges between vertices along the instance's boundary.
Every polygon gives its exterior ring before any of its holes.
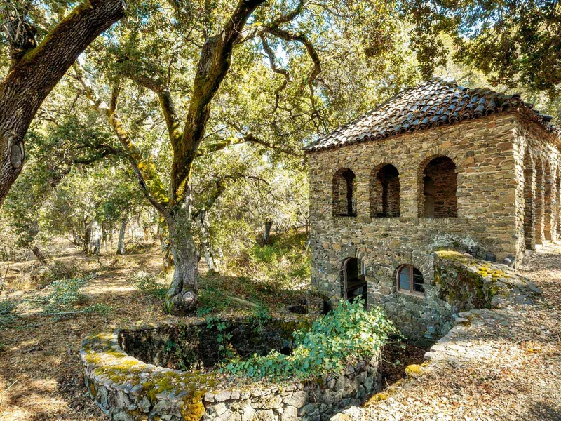
{"type": "Polygon", "coordinates": [[[533,253],[519,272],[543,291],[519,316],[470,344],[485,357],[439,363],[353,408],[352,420],[561,420],[561,246],[533,253]]]}

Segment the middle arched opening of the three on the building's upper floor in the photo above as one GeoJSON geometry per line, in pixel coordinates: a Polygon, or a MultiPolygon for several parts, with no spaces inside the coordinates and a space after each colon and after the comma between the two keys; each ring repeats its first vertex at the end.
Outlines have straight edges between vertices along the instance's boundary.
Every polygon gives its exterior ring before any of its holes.
{"type": "Polygon", "coordinates": [[[372,218],[399,216],[399,171],[386,163],[374,168],[370,180],[370,216],[372,218]]]}

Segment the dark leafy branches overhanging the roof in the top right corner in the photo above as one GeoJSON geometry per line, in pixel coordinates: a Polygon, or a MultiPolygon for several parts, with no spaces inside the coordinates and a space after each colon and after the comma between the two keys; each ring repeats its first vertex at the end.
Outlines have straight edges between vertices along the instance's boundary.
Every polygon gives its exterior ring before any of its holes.
{"type": "Polygon", "coordinates": [[[485,73],[494,85],[544,91],[561,86],[561,8],[557,1],[409,0],[412,46],[424,73],[445,64],[442,34],[454,40],[454,60],[485,73]]]}

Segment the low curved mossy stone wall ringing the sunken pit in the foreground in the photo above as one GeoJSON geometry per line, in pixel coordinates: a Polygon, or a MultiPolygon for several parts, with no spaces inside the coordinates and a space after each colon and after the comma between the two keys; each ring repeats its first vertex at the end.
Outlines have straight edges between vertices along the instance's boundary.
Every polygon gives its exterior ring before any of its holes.
{"type": "MultiPolygon", "coordinates": [[[[136,352],[150,354],[149,344],[159,346],[166,335],[173,338],[174,329],[116,330],[84,340],[81,359],[86,387],[105,415],[112,420],[327,420],[381,389],[379,356],[322,378],[254,384],[216,371],[155,366],[128,355],[119,345],[128,342],[136,352]]],[[[151,355],[163,357],[159,352],[151,355]]]]}

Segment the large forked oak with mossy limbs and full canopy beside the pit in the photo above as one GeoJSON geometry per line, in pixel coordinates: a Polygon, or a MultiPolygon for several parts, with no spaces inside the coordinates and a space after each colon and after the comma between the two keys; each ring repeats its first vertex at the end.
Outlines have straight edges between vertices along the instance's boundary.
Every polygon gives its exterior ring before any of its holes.
{"type": "MultiPolygon", "coordinates": [[[[321,77],[323,66],[349,66],[346,60],[355,53],[380,58],[393,51],[393,36],[398,34],[396,20],[391,19],[395,11],[391,1],[169,0],[168,6],[147,2],[142,8],[131,8],[126,24],[108,37],[105,48],[100,48],[107,55],[92,57],[86,72],[76,66],[75,79],[106,116],[140,189],[168,226],[175,262],[166,300],[170,312],[190,314],[198,300],[193,218],[200,214],[193,211],[196,161],[241,143],[301,154],[295,145],[302,145],[312,131],[331,126],[322,108],[325,99],[345,91],[337,82],[330,83],[329,76],[321,77]],[[262,111],[248,119],[254,112],[243,108],[239,102],[243,95],[234,92],[246,83],[251,69],[265,65],[270,73],[262,77],[273,78],[276,88],[267,106],[259,105],[259,98],[270,97],[259,96],[255,90],[252,95],[257,98],[252,103],[262,111]],[[105,100],[105,90],[92,86],[100,76],[108,82],[110,95],[105,100]],[[158,98],[167,128],[164,149],[170,154],[169,168],[156,166],[150,154],[137,146],[127,129],[132,122],[119,113],[119,98],[131,87],[158,98]],[[209,130],[212,112],[218,114],[219,122],[209,130]]],[[[377,69],[375,60],[372,69],[377,69]]],[[[262,85],[268,88],[271,82],[263,80],[262,85]]],[[[245,175],[208,180],[212,186],[208,203],[224,191],[224,181],[233,177],[245,175]]],[[[206,206],[196,207],[204,214],[206,206]]]]}

